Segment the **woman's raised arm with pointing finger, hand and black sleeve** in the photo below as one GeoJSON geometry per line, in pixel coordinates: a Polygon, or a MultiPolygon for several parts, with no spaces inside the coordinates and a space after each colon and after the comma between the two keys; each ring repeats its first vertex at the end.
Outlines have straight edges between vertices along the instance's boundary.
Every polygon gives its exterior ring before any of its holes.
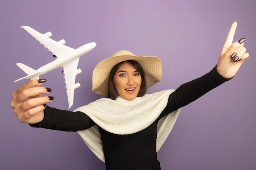
{"type": "Polygon", "coordinates": [[[191,82],[182,84],[177,88],[177,90],[169,96],[168,104],[163,111],[163,115],[186,106],[213,88],[216,88],[234,77],[240,66],[249,57],[249,53],[246,53],[244,47],[245,38],[232,43],[236,26],[237,22],[231,25],[217,66],[213,68],[210,73],[198,79],[194,79],[191,82]]]}

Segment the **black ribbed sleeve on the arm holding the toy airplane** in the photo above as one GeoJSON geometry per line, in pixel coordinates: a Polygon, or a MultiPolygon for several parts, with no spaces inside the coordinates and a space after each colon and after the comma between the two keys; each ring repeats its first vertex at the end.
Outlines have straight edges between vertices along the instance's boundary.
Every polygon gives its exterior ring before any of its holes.
{"type": "Polygon", "coordinates": [[[95,125],[95,123],[82,112],[71,112],[59,110],[46,106],[43,121],[37,124],[29,124],[36,128],[46,128],[61,131],[85,130],[95,125]]]}

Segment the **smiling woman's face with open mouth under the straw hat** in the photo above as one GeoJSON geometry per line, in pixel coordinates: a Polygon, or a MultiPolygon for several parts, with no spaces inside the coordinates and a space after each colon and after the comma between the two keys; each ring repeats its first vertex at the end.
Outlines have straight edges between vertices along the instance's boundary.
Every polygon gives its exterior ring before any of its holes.
{"type": "Polygon", "coordinates": [[[115,73],[113,83],[121,98],[133,100],[139,93],[141,75],[134,66],[124,62],[115,73]]]}

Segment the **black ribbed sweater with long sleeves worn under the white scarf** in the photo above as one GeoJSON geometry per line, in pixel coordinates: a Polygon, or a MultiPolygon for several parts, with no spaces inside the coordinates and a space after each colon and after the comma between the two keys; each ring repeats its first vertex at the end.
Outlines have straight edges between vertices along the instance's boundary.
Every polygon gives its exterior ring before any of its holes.
{"type": "MultiPolygon", "coordinates": [[[[160,170],[157,160],[156,137],[157,123],[168,113],[198,99],[213,88],[227,81],[218,74],[216,67],[198,79],[181,85],[168,98],[166,108],[147,128],[130,135],[116,135],[98,126],[101,133],[106,170],[160,170]]],[[[32,127],[62,131],[85,130],[97,126],[90,117],[82,112],[70,112],[56,108],[45,108],[45,117],[32,127]]]]}

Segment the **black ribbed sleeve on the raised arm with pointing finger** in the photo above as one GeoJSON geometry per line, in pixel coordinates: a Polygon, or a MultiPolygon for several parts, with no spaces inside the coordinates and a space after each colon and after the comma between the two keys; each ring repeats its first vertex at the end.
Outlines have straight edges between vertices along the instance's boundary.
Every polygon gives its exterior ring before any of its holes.
{"type": "MultiPolygon", "coordinates": [[[[232,77],[233,78],[233,77],[232,77]]],[[[230,78],[230,79],[232,79],[230,78]]],[[[190,104],[213,88],[229,79],[223,77],[217,72],[216,66],[206,75],[194,79],[191,82],[182,84],[177,90],[169,96],[166,108],[163,110],[161,117],[190,104]]]]}

